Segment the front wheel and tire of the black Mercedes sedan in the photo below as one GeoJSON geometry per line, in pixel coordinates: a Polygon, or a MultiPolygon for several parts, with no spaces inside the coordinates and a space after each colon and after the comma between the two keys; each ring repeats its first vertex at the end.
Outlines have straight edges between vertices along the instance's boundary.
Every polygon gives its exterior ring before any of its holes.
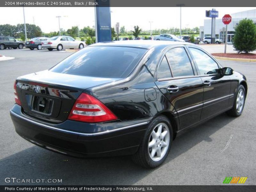
{"type": "Polygon", "coordinates": [[[233,117],[240,116],[244,110],[245,98],[246,98],[246,93],[245,93],[244,86],[239,85],[235,95],[233,108],[227,111],[228,115],[233,117]]]}

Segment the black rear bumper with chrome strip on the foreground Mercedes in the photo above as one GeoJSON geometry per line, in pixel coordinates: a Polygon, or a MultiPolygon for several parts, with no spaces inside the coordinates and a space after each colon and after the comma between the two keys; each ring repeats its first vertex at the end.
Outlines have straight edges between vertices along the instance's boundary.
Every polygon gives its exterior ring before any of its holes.
{"type": "MultiPolygon", "coordinates": [[[[11,109],[10,114],[15,131],[24,139],[40,147],[77,157],[134,154],[140,145],[140,141],[147,129],[147,124],[150,121],[149,119],[131,121],[130,125],[116,129],[85,133],[64,130],[58,127],[59,124],[50,125],[32,119],[23,114],[21,107],[16,104],[11,109]],[[19,108],[20,112],[18,111],[19,108]]],[[[113,124],[117,123],[113,122],[113,124]]],[[[88,126],[88,124],[86,125],[88,126]]],[[[112,127],[109,126],[109,128],[112,127]]]]}

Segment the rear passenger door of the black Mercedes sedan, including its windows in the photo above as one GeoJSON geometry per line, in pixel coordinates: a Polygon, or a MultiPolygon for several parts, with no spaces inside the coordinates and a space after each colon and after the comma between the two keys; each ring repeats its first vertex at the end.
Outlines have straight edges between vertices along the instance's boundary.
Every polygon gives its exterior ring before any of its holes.
{"type": "Polygon", "coordinates": [[[200,121],[203,82],[186,47],[175,47],[165,53],[158,67],[156,85],[176,109],[180,130],[200,121]]]}

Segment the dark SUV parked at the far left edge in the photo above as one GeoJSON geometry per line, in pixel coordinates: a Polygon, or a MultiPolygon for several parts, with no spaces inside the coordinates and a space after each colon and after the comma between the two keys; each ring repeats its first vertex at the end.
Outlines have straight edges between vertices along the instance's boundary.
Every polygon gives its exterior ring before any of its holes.
{"type": "Polygon", "coordinates": [[[0,36],[0,50],[8,48],[22,49],[25,43],[23,41],[17,41],[14,37],[0,36]]]}

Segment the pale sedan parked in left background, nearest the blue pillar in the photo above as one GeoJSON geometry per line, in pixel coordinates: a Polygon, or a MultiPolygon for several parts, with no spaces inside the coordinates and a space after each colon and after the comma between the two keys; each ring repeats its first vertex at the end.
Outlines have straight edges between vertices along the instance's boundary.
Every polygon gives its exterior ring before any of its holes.
{"type": "Polygon", "coordinates": [[[42,42],[42,48],[46,48],[49,51],[53,49],[57,49],[58,51],[74,48],[83,49],[84,47],[85,43],[83,41],[77,41],[70,36],[55,36],[42,42]]]}

